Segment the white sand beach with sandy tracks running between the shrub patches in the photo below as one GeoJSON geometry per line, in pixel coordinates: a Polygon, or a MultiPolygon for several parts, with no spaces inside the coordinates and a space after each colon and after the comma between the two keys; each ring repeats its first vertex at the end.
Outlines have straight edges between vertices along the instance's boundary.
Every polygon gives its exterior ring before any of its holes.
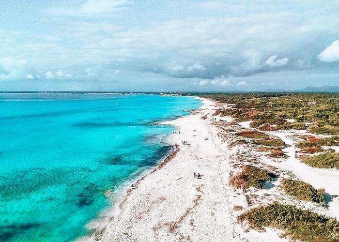
{"type": "Polygon", "coordinates": [[[269,190],[233,189],[229,185],[231,174],[253,162],[256,166],[275,169],[282,177],[293,177],[316,188],[325,188],[330,195],[339,194],[334,182],[338,181],[339,172],[311,168],[294,159],[295,142],[287,136],[293,135],[291,132],[266,132],[292,145],[284,150],[290,158],[272,158],[246,144],[231,145],[234,132],[225,127],[248,129],[249,122],[241,123],[244,126],[241,127],[231,123],[230,117],[223,117],[224,121],[214,123],[214,102],[203,99],[203,103],[201,109],[191,115],[163,123],[177,127],[177,134],[170,135],[168,140],[177,146],[177,150],[166,164],[128,187],[105,222],[96,225],[96,232],[81,241],[287,242],[288,238],[281,236],[283,231],[278,229],[267,228],[265,232],[259,232],[237,223],[237,215],[248,207],[277,200],[339,218],[338,198],[331,201],[329,209],[311,202],[295,201],[281,191],[278,181],[269,190]],[[200,179],[194,173],[200,173],[200,179]],[[325,182],[324,176],[330,180],[325,182]]]}

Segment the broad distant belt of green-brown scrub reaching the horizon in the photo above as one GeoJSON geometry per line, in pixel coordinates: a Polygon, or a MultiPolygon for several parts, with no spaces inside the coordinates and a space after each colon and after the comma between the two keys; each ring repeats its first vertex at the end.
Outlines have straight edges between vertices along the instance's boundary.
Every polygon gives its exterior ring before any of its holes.
{"type": "Polygon", "coordinates": [[[339,135],[339,93],[192,94],[234,104],[232,108],[218,111],[218,114],[231,116],[237,122],[252,120],[250,126],[259,127],[262,131],[308,128],[314,134],[339,135]],[[295,122],[289,122],[288,119],[295,122]]]}

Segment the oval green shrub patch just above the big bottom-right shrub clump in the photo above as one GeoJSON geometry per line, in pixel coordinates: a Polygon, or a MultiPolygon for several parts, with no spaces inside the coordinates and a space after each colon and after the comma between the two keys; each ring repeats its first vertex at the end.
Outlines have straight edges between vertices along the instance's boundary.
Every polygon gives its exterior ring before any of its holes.
{"type": "Polygon", "coordinates": [[[315,189],[308,183],[283,178],[281,181],[286,194],[297,197],[300,200],[323,203],[324,189],[315,189]]]}

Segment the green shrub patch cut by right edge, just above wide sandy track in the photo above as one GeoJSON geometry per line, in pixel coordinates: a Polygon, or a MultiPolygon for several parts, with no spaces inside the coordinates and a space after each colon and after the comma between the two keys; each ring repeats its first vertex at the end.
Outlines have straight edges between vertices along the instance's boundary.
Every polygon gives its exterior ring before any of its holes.
{"type": "Polygon", "coordinates": [[[308,166],[339,169],[339,153],[336,152],[330,151],[313,156],[303,155],[300,158],[301,161],[308,166]]]}

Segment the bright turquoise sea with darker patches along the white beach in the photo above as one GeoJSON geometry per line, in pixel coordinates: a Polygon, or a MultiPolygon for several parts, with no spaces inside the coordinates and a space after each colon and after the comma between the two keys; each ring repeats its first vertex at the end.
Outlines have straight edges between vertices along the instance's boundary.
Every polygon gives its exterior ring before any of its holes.
{"type": "Polygon", "coordinates": [[[167,155],[201,102],[160,95],[0,93],[0,242],[69,242],[110,206],[103,192],[167,155]]]}

